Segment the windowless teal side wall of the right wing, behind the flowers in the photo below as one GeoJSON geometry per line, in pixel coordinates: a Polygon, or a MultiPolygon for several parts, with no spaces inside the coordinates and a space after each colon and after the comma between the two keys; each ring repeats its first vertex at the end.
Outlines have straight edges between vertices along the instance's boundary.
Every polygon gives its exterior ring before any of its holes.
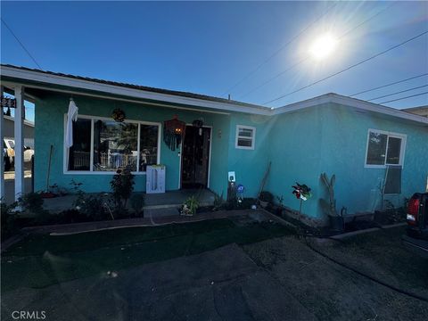
{"type": "Polygon", "coordinates": [[[302,213],[317,218],[321,171],[323,122],[325,106],[281,114],[273,120],[269,134],[268,157],[272,167],[266,189],[284,197],[284,205],[299,210],[300,201],[292,194],[295,182],[312,189],[312,198],[302,203],[302,213]]]}

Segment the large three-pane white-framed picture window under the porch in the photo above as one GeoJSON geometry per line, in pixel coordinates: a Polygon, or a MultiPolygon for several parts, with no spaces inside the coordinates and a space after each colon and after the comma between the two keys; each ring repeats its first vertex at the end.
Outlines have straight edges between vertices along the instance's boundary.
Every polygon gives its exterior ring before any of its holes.
{"type": "Polygon", "coordinates": [[[70,172],[115,172],[130,167],[145,172],[159,163],[161,125],[80,116],[73,122],[73,145],[67,151],[70,172]]]}

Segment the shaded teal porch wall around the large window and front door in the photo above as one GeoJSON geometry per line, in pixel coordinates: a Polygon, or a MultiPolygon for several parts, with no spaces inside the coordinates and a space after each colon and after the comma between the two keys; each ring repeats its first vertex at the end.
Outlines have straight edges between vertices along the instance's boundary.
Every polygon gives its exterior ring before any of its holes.
{"type": "MultiPolygon", "coordinates": [[[[35,190],[45,190],[47,161],[50,145],[53,145],[51,172],[49,184],[70,187],[71,180],[82,183],[86,192],[108,192],[112,174],[64,174],[63,171],[63,136],[64,114],[68,111],[70,96],[49,95],[37,101],[35,121],[36,158],[35,158],[35,190]]],[[[125,111],[127,119],[162,123],[172,119],[175,114],[178,119],[192,123],[194,119],[203,118],[204,125],[212,127],[210,188],[221,193],[226,189],[226,170],[228,159],[228,136],[230,116],[216,113],[177,110],[158,106],[136,103],[121,103],[111,100],[75,97],[80,115],[111,117],[111,111],[121,108],[125,111]],[[218,135],[221,131],[221,135],[218,135]],[[221,178],[223,177],[223,178],[221,178]]],[[[163,133],[162,133],[163,134],[163,133]]],[[[166,165],[166,189],[179,188],[179,149],[171,151],[161,138],[161,163],[166,165]]],[[[145,190],[145,175],[136,175],[135,191],[145,190]]],[[[226,190],[225,190],[226,192],[226,190]]]]}

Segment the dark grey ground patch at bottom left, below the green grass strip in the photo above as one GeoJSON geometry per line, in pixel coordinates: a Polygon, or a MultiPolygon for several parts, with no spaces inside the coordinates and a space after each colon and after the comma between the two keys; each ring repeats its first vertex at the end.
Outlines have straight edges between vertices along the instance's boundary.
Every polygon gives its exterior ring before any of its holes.
{"type": "MultiPolygon", "coordinates": [[[[53,266],[66,261],[49,258],[53,266]]],[[[43,310],[46,320],[58,321],[317,320],[236,244],[109,271],[106,263],[99,276],[2,293],[2,319],[15,310],[43,310]]]]}

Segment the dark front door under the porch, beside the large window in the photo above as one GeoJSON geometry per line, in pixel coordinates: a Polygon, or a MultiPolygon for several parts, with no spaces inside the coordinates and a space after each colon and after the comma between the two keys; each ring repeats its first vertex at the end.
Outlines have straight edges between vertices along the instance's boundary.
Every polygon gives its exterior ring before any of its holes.
{"type": "Polygon", "coordinates": [[[208,187],[210,136],[210,128],[185,127],[181,163],[182,188],[208,187]]]}

